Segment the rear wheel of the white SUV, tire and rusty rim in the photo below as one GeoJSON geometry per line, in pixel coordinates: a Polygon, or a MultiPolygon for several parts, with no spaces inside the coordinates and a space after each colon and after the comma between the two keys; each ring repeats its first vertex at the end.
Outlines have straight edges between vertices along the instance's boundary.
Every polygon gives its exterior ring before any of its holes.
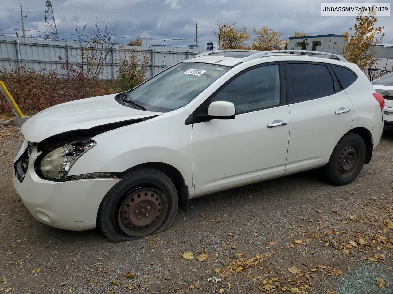
{"type": "Polygon", "coordinates": [[[333,185],[347,185],[352,183],[363,168],[366,157],[364,140],[358,134],[345,134],[330,156],[330,160],[323,167],[327,182],[333,185]]]}

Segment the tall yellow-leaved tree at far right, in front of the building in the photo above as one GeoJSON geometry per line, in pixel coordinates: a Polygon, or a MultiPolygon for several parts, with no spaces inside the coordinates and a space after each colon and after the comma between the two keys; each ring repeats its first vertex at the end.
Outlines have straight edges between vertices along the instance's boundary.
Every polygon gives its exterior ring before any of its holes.
{"type": "Polygon", "coordinates": [[[372,46],[382,43],[382,38],[385,36],[385,33],[382,33],[384,27],[374,27],[377,21],[373,15],[358,15],[354,27],[344,33],[345,45],[342,48],[342,56],[362,70],[374,64],[373,58],[376,53],[372,50],[372,46]]]}

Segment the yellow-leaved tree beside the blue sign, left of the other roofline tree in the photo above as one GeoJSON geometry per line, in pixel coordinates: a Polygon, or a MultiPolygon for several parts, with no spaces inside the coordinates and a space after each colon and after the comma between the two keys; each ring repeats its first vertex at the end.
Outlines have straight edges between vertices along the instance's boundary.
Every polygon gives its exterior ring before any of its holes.
{"type": "Polygon", "coordinates": [[[248,47],[246,41],[250,34],[246,27],[237,27],[236,23],[219,25],[219,31],[215,33],[219,39],[218,49],[243,49],[248,47]]]}

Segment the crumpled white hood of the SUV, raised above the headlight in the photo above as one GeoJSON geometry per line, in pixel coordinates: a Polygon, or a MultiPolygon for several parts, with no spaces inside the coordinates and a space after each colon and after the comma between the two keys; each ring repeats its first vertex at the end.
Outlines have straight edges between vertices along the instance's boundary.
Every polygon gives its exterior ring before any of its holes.
{"type": "Polygon", "coordinates": [[[49,107],[26,120],[21,132],[29,142],[39,143],[63,132],[162,114],[121,105],[116,102],[116,95],[84,98],[49,107]]]}

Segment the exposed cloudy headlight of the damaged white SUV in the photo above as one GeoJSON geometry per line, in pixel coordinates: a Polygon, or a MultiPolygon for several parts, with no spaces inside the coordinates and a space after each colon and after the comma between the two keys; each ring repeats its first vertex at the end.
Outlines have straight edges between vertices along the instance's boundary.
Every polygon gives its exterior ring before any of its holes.
{"type": "Polygon", "coordinates": [[[72,165],[95,145],[93,140],[72,142],[49,152],[40,162],[41,174],[46,178],[66,180],[72,165]]]}

